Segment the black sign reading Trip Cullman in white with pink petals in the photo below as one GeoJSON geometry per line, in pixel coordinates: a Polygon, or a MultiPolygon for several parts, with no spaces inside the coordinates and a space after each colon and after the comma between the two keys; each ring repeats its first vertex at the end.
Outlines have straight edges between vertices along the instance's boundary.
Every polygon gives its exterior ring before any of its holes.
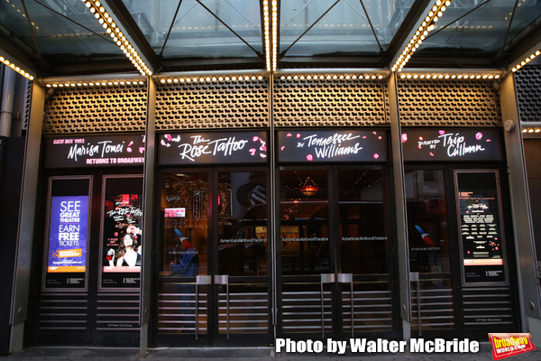
{"type": "Polygon", "coordinates": [[[405,161],[499,161],[500,130],[404,128],[401,135],[405,161]]]}

